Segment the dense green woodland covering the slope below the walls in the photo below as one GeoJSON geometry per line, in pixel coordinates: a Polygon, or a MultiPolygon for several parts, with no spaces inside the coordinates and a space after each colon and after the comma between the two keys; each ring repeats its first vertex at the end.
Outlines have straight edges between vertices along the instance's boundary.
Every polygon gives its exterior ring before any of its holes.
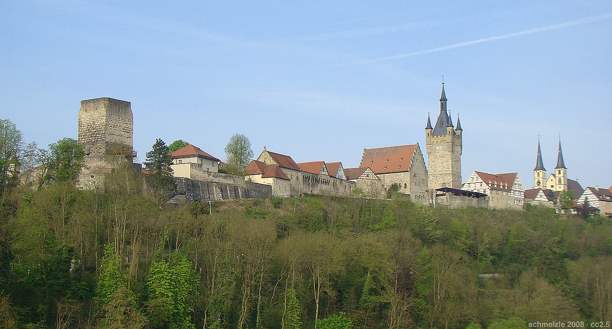
{"type": "Polygon", "coordinates": [[[116,169],[99,190],[5,188],[0,327],[612,320],[612,225],[600,216],[430,208],[401,194],[171,205],[147,186],[116,169]]]}

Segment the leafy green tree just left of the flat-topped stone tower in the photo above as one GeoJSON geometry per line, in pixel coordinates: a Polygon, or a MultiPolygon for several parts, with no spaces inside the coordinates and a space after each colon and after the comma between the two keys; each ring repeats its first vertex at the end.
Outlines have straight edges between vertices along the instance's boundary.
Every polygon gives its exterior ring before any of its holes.
{"type": "Polygon", "coordinates": [[[84,167],[85,151],[76,139],[63,138],[49,144],[51,163],[47,177],[55,182],[69,182],[78,178],[84,167]]]}

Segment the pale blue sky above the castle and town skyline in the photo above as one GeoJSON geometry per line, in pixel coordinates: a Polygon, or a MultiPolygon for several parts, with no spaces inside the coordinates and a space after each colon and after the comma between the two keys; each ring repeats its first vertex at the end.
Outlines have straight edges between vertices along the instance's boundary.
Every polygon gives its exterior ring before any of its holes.
{"type": "Polygon", "coordinates": [[[550,173],[561,134],[569,178],[612,185],[609,0],[3,1],[0,40],[0,117],[40,146],[106,94],[132,102],[140,160],[155,138],[225,159],[234,133],[345,168],[364,148],[427,157],[444,75],[464,180],[531,188],[538,135],[550,173]]]}

